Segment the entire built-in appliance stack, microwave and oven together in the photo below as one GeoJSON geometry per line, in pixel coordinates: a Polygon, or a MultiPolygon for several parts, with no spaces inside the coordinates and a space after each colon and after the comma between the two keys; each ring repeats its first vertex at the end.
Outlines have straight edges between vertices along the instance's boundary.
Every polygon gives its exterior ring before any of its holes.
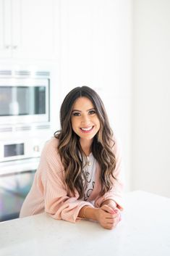
{"type": "Polygon", "coordinates": [[[49,70],[0,67],[0,221],[19,216],[51,137],[49,70]]]}

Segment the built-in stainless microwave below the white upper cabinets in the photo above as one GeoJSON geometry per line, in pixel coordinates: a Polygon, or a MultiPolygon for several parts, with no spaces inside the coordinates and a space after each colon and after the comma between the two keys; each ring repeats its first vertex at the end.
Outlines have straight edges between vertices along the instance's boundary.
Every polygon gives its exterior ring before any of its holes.
{"type": "Polygon", "coordinates": [[[0,124],[48,123],[50,73],[0,70],[0,124]]]}

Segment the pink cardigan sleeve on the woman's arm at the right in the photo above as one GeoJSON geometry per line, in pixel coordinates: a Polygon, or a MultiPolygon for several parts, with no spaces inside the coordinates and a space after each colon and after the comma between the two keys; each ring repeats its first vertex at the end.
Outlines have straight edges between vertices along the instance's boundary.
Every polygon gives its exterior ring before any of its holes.
{"type": "Polygon", "coordinates": [[[114,169],[113,186],[110,191],[106,192],[103,196],[95,199],[95,207],[101,207],[101,204],[107,199],[112,199],[122,209],[123,203],[123,177],[122,177],[122,157],[118,141],[114,139],[114,155],[116,157],[116,168],[114,169]]]}

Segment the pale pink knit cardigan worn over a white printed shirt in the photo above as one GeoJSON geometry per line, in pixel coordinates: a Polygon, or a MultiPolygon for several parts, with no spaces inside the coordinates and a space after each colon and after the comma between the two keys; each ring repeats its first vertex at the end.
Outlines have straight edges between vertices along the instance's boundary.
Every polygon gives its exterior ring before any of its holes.
{"type": "Polygon", "coordinates": [[[90,194],[88,201],[78,199],[78,193],[75,197],[70,194],[67,185],[64,181],[64,167],[61,164],[61,159],[57,150],[58,139],[53,138],[46,142],[41,154],[41,161],[38,170],[35,173],[33,186],[25,198],[20,211],[20,217],[35,215],[41,212],[47,212],[55,219],[69,220],[75,222],[80,209],[85,205],[91,207],[100,207],[101,203],[106,199],[113,199],[117,205],[122,205],[122,181],[120,178],[121,172],[121,157],[117,143],[114,145],[114,154],[116,156],[116,169],[114,176],[113,189],[102,197],[99,195],[101,190],[100,167],[97,164],[95,187],[90,194]],[[94,205],[91,203],[94,202],[94,205]]]}

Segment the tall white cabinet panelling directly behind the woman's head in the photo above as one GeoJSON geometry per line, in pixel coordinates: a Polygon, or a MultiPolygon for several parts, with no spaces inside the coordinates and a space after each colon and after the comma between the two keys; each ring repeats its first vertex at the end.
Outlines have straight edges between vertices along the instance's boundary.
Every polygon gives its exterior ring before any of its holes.
{"type": "Polygon", "coordinates": [[[75,86],[87,85],[98,91],[122,144],[125,190],[129,190],[131,0],[62,0],[60,3],[61,101],[75,86]]]}

